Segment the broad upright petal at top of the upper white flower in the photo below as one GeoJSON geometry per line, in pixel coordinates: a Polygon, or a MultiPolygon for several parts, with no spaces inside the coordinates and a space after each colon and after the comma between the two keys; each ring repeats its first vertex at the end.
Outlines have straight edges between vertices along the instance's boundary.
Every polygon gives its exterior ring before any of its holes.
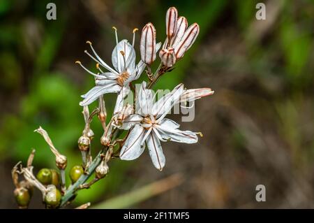
{"type": "Polygon", "coordinates": [[[112,51],[112,65],[119,73],[125,68],[135,68],[135,50],[126,39],[120,41],[112,51]],[[124,53],[124,56],[121,52],[124,53]]]}

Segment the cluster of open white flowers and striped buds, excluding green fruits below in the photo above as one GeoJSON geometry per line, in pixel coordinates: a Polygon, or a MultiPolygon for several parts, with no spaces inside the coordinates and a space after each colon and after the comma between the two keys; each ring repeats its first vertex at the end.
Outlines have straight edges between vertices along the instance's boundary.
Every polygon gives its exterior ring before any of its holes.
{"type": "Polygon", "coordinates": [[[165,17],[166,38],[163,47],[161,43],[156,43],[156,29],[151,22],[147,23],[140,37],[140,62],[135,66],[135,31],[133,30],[132,44],[127,40],[118,41],[117,29],[114,28],[117,45],[112,51],[112,65],[107,65],[100,59],[97,52],[89,43],[94,55],[85,51],[91,59],[94,59],[98,73],[86,69],[80,62],[83,69],[94,75],[96,86],[82,97],[81,106],[88,106],[106,93],[117,93],[117,102],[114,108],[113,118],[105,128],[102,138],[103,145],[110,145],[112,131],[114,129],[127,130],[128,136],[122,142],[119,153],[120,159],[132,160],[140,157],[145,146],[149,150],[151,160],[156,168],[162,170],[165,166],[165,156],[161,148],[160,141],[174,141],[179,143],[196,143],[197,134],[193,131],[181,131],[179,124],[165,118],[174,104],[186,103],[200,99],[203,96],[213,94],[210,88],[184,89],[180,84],[174,87],[172,92],[166,94],[158,101],[154,102],[154,92],[150,89],[157,78],[166,73],[169,68],[184,57],[185,52],[193,45],[200,27],[193,23],[188,27],[186,17],[179,16],[177,8],[171,7],[167,10],[165,17]],[[158,70],[151,73],[151,64],[156,60],[159,50],[160,65],[158,70]],[[103,66],[104,72],[99,66],[103,66]],[[147,75],[150,83],[142,82],[142,85],[135,92],[135,109],[129,104],[124,106],[124,98],[130,93],[133,81],[140,78],[144,69],[147,68],[147,75]]]}

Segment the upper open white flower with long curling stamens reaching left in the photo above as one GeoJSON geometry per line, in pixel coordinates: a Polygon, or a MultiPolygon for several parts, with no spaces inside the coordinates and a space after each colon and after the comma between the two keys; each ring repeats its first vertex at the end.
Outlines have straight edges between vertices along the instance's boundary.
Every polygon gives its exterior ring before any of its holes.
{"type": "Polygon", "coordinates": [[[95,77],[96,86],[93,87],[87,94],[82,95],[84,98],[83,101],[80,102],[80,106],[87,106],[96,99],[100,95],[107,93],[119,93],[117,97],[116,108],[114,109],[114,113],[121,110],[123,107],[123,99],[130,92],[129,83],[133,80],[137,80],[140,77],[141,73],[144,71],[146,64],[142,62],[142,60],[135,66],[135,50],[134,50],[134,42],[135,42],[135,31],[133,30],[133,43],[132,45],[128,43],[127,40],[122,40],[118,42],[117,29],[113,27],[116,36],[117,45],[112,51],[112,65],[114,68],[107,65],[103,59],[101,59],[93,46],[89,43],[91,50],[94,53],[94,56],[89,54],[89,52],[85,51],[91,59],[94,59],[97,62],[96,67],[99,73],[93,73],[86,69],[81,62],[77,62],[80,64],[84,70],[86,70],[91,75],[95,77]],[[99,66],[103,66],[107,71],[104,72],[100,69],[99,66]]]}

